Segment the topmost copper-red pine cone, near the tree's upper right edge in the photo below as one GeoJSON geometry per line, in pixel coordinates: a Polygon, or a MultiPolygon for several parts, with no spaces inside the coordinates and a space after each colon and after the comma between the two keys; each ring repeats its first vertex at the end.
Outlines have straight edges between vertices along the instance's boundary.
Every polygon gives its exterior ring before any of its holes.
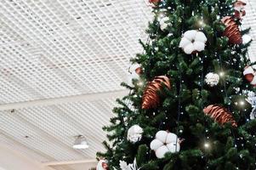
{"type": "Polygon", "coordinates": [[[239,27],[237,26],[236,22],[232,17],[226,16],[221,20],[226,28],[223,33],[223,36],[229,38],[229,42],[231,44],[241,44],[242,43],[242,35],[239,30],[239,27]]]}

